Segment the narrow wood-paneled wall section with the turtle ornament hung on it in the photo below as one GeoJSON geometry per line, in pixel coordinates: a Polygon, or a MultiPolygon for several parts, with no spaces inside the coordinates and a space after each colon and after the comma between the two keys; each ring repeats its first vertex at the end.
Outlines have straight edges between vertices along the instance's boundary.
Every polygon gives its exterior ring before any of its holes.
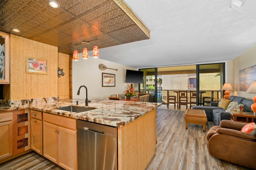
{"type": "Polygon", "coordinates": [[[65,73],[64,76],[58,77],[59,99],[69,99],[69,59],[70,55],[58,53],[58,67],[65,73]]]}

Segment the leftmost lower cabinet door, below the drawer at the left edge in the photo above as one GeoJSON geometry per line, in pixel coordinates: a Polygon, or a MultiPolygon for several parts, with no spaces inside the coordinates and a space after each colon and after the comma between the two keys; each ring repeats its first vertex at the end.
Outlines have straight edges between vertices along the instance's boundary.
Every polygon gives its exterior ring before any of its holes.
{"type": "Polygon", "coordinates": [[[12,121],[0,123],[0,160],[12,155],[12,121]]]}

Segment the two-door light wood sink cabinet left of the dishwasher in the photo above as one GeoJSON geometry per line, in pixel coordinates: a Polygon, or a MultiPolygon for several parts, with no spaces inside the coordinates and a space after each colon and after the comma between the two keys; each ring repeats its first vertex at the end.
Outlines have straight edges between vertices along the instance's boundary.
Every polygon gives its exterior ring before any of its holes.
{"type": "Polygon", "coordinates": [[[43,156],[67,170],[77,169],[76,119],[43,113],[43,156]]]}

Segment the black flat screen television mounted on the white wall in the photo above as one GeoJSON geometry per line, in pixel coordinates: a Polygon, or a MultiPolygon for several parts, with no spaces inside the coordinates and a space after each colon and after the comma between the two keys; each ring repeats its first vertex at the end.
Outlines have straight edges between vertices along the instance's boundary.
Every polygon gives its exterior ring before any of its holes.
{"type": "Polygon", "coordinates": [[[126,83],[143,83],[143,71],[126,70],[126,83]]]}

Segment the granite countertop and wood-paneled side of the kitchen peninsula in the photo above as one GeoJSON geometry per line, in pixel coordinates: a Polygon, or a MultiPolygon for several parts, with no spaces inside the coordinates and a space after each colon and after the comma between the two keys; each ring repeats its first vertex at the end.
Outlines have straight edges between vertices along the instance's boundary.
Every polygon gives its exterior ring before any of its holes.
{"type": "MultiPolygon", "coordinates": [[[[156,107],[161,104],[146,102],[127,102],[116,100],[91,100],[90,111],[74,113],[56,109],[64,106],[85,107],[84,100],[66,99],[48,104],[31,104],[19,107],[81,119],[102,125],[117,127],[118,169],[144,170],[155,153],[156,148],[156,107]],[[76,105],[78,101],[78,105],[76,105]]],[[[13,108],[2,111],[10,111],[13,108]]],[[[44,117],[44,116],[43,116],[44,117]]]]}

